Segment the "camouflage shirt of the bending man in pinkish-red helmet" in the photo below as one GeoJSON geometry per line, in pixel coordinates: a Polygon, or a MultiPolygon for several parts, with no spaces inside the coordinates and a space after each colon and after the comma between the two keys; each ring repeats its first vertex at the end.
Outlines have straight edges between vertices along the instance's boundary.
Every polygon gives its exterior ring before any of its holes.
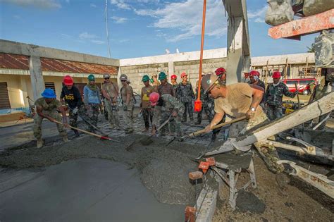
{"type": "Polygon", "coordinates": [[[162,104],[157,104],[154,106],[154,115],[152,125],[159,124],[159,117],[161,116],[161,111],[174,111],[178,112],[178,115],[182,115],[185,111],[185,106],[175,97],[172,97],[171,94],[163,94],[161,96],[162,104]]]}

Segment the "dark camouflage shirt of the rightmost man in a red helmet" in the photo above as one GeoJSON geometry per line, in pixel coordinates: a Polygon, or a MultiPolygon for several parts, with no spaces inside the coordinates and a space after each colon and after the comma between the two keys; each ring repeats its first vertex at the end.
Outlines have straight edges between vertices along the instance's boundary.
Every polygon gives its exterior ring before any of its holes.
{"type": "Polygon", "coordinates": [[[270,106],[282,106],[283,95],[293,98],[296,94],[290,92],[283,82],[279,82],[276,86],[271,83],[264,94],[264,103],[270,106]]]}

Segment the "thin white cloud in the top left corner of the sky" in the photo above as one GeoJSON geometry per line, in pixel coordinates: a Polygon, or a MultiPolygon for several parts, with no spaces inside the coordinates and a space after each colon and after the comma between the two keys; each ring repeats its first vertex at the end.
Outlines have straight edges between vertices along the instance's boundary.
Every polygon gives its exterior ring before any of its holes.
{"type": "Polygon", "coordinates": [[[33,6],[36,8],[52,9],[61,8],[56,0],[0,0],[2,2],[16,4],[18,6],[33,6]]]}

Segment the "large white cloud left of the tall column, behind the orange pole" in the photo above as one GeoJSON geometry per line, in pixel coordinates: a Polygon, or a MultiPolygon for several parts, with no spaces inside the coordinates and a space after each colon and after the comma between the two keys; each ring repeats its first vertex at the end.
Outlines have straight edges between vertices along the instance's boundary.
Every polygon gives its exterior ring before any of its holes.
{"type": "MultiPolygon", "coordinates": [[[[156,18],[152,24],[156,28],[171,28],[180,34],[166,37],[168,42],[177,42],[201,35],[203,1],[187,0],[168,3],[163,8],[135,10],[139,16],[156,18]]],[[[206,5],[206,35],[221,37],[227,32],[227,18],[224,17],[221,0],[208,1],[206,5]]]]}

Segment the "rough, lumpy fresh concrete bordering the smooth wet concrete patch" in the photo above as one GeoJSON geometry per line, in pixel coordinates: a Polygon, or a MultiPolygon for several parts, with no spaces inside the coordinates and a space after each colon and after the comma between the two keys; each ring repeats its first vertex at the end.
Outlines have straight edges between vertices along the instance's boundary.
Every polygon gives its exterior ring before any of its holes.
{"type": "MultiPolygon", "coordinates": [[[[140,135],[120,137],[118,140],[138,140],[140,135]]],[[[0,166],[8,168],[42,168],[60,164],[63,161],[81,158],[109,159],[137,168],[142,183],[154,193],[159,202],[166,204],[193,204],[194,186],[187,178],[190,171],[197,169],[192,161],[203,149],[202,146],[174,142],[166,147],[166,140],[153,138],[149,146],[135,143],[130,152],[122,144],[83,137],[66,144],[36,149],[25,147],[23,150],[11,149],[0,156],[0,166]]]]}

